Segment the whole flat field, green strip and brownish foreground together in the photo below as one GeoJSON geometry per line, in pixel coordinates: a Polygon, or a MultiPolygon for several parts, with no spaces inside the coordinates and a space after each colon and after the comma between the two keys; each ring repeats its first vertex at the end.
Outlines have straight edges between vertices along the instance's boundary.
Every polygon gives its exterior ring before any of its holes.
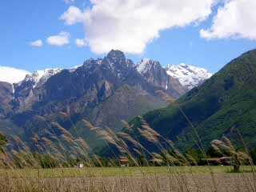
{"type": "Polygon", "coordinates": [[[243,166],[241,174],[230,173],[230,166],[0,170],[0,191],[255,191],[250,169],[243,166]]]}

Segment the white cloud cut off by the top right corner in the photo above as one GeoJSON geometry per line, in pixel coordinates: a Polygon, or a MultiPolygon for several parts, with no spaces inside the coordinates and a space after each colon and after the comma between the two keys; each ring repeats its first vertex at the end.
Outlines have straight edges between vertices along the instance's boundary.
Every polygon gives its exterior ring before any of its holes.
{"type": "Polygon", "coordinates": [[[226,0],[218,8],[213,25],[201,30],[202,38],[249,38],[256,40],[256,1],[226,0]]]}

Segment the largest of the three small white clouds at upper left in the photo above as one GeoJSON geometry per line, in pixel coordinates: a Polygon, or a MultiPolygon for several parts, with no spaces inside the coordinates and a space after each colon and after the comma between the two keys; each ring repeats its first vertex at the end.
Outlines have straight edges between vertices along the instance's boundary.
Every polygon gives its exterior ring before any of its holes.
{"type": "Polygon", "coordinates": [[[51,46],[66,46],[70,43],[70,34],[62,31],[58,35],[47,38],[47,42],[51,46]]]}

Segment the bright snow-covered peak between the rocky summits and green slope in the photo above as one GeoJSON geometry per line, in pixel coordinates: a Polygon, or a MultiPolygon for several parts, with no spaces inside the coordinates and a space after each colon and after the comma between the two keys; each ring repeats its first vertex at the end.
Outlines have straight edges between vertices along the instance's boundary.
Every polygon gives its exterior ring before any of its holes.
{"type": "Polygon", "coordinates": [[[182,86],[186,86],[189,90],[201,85],[202,82],[205,82],[206,79],[212,76],[206,69],[184,63],[180,65],[167,65],[166,72],[171,77],[178,78],[182,86]]]}

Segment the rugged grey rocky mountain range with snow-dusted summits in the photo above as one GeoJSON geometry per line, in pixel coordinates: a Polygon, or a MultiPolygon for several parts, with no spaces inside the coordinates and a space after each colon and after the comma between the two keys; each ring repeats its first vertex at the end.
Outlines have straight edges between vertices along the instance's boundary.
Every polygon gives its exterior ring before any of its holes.
{"type": "Polygon", "coordinates": [[[18,83],[0,82],[0,131],[15,150],[22,150],[16,145],[19,138],[41,152],[47,150],[46,143],[76,152],[79,146],[70,142],[76,139],[94,148],[101,142],[84,120],[118,131],[122,120],[168,105],[157,91],[176,99],[210,77],[206,70],[200,74],[201,69],[187,66],[181,80],[179,68],[174,75],[170,69],[146,59],[135,65],[122,51],[111,50],[75,69],[36,71],[18,83]]]}

